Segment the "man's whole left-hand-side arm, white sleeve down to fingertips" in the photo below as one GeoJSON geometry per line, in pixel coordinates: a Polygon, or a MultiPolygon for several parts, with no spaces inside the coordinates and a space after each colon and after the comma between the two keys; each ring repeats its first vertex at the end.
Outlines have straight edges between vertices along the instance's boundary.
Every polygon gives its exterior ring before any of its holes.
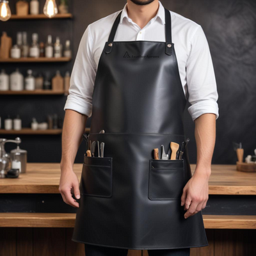
{"type": "Polygon", "coordinates": [[[80,197],[79,181],[73,172],[73,164],[82,140],[86,120],[92,115],[93,81],[96,76],[95,61],[92,57],[92,38],[90,25],[84,31],[79,44],[76,61],[70,77],[69,95],[65,104],[65,119],[62,134],[62,157],[60,193],[66,204],[79,207],[72,198],[80,197]]]}

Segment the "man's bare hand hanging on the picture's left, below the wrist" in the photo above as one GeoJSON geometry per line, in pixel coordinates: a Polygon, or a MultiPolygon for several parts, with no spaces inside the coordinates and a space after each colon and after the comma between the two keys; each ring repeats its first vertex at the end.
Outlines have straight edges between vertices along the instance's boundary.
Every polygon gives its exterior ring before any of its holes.
{"type": "Polygon", "coordinates": [[[77,199],[80,198],[79,180],[73,170],[61,171],[59,191],[63,201],[66,204],[69,204],[73,207],[79,207],[79,204],[76,202],[76,200],[74,200],[74,198],[72,198],[71,195],[71,192],[74,191],[75,197],[77,199]]]}

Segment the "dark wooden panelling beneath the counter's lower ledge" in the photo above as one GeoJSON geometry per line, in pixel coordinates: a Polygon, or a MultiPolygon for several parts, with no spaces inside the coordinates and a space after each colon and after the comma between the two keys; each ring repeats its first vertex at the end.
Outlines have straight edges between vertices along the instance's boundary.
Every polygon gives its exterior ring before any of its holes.
{"type": "MultiPolygon", "coordinates": [[[[71,241],[73,228],[0,228],[2,256],[84,256],[84,244],[71,241]]],[[[256,230],[206,230],[209,246],[191,256],[254,256],[256,230]]],[[[148,256],[143,250],[143,256],[148,256]]],[[[127,256],[141,256],[129,250],[127,256]]]]}

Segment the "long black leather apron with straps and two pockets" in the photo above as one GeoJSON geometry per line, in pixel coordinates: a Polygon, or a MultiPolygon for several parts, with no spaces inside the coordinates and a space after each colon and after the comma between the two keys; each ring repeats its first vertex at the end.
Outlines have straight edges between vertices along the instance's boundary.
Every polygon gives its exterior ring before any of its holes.
{"type": "Polygon", "coordinates": [[[180,160],[152,154],[186,140],[170,12],[165,9],[166,42],[114,41],[120,15],[93,91],[89,140],[105,143],[104,157],[84,155],[72,240],[134,250],[207,246],[202,212],[185,220],[180,206],[191,178],[188,151],[180,160]]]}

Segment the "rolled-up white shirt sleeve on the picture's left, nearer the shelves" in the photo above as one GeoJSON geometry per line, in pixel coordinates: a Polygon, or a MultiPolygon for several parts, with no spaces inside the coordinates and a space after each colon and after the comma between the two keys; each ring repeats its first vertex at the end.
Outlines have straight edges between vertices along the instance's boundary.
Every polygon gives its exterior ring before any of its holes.
{"type": "Polygon", "coordinates": [[[92,56],[90,25],[84,31],[70,77],[70,88],[64,110],[72,109],[83,115],[92,115],[92,94],[96,64],[92,56]]]}

